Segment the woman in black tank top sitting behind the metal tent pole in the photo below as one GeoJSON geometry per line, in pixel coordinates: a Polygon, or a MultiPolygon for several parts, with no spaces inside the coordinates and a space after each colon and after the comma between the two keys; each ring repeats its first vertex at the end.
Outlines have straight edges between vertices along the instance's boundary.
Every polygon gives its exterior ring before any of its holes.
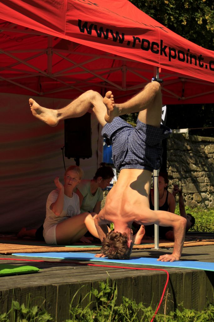
{"type": "MultiPolygon", "coordinates": [[[[160,172],[158,176],[158,208],[159,210],[175,213],[175,198],[173,194],[167,190],[168,182],[168,174],[160,172]]],[[[154,189],[150,189],[150,209],[154,210],[154,189]]],[[[169,230],[172,230],[172,227],[159,226],[159,237],[166,239],[165,235],[169,230]]],[[[154,225],[145,226],[145,232],[146,236],[148,237],[154,236],[154,225]]]]}

